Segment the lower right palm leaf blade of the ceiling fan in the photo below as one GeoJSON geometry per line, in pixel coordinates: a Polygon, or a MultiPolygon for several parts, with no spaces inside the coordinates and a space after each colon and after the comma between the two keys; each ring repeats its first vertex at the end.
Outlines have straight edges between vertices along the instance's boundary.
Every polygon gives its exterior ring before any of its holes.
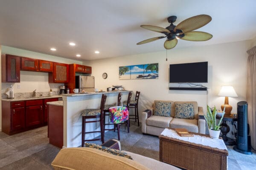
{"type": "Polygon", "coordinates": [[[192,31],[192,32],[185,32],[184,37],[181,37],[182,40],[188,41],[207,41],[212,38],[212,35],[207,32],[201,31],[192,31]]]}

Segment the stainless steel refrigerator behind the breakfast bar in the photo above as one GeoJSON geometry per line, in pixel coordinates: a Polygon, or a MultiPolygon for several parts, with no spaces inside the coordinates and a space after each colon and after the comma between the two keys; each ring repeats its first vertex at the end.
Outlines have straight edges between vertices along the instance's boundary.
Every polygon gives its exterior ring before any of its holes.
{"type": "Polygon", "coordinates": [[[94,92],[94,77],[93,76],[76,76],[76,89],[79,89],[79,92],[94,92]]]}

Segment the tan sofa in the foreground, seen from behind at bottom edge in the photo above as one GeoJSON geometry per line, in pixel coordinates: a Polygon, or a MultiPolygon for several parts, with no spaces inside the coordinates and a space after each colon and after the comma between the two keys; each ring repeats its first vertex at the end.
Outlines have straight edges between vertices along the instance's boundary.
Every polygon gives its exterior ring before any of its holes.
{"type": "Polygon", "coordinates": [[[170,164],[127,152],[133,160],[89,147],[64,148],[52,161],[55,170],[180,170],[170,164]]]}

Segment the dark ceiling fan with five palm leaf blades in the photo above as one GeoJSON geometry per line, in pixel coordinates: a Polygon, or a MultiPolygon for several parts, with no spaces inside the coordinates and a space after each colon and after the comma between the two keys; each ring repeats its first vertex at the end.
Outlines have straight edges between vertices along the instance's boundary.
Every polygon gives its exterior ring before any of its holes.
{"type": "Polygon", "coordinates": [[[137,45],[149,43],[154,40],[159,40],[162,38],[167,37],[167,40],[164,43],[165,49],[172,49],[174,48],[178,40],[188,40],[188,41],[207,41],[212,38],[212,35],[207,32],[201,32],[201,31],[194,31],[196,29],[201,28],[202,26],[205,26],[207,23],[209,23],[212,20],[212,17],[206,14],[196,15],[194,17],[190,17],[186,20],[183,20],[181,23],[179,23],[177,26],[173,25],[173,23],[176,21],[176,16],[170,16],[167,18],[168,22],[171,23],[170,26],[167,26],[166,28],[162,28],[159,26],[152,26],[152,25],[141,25],[142,28],[154,31],[154,32],[160,32],[165,34],[165,36],[160,37],[154,37],[149,38],[147,40],[140,41],[137,43],[137,45]]]}

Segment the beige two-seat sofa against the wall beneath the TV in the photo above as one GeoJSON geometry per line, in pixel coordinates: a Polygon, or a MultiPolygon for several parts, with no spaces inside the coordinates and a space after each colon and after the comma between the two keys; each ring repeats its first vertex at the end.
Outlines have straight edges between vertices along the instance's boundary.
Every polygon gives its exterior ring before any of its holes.
{"type": "Polygon", "coordinates": [[[198,107],[196,101],[163,101],[171,103],[171,117],[154,115],[155,103],[153,109],[147,109],[142,112],[142,133],[151,135],[160,135],[165,128],[186,128],[190,132],[205,134],[206,122],[199,119],[204,115],[203,108],[198,107]],[[194,119],[174,118],[176,103],[191,103],[194,108],[194,119]]]}

